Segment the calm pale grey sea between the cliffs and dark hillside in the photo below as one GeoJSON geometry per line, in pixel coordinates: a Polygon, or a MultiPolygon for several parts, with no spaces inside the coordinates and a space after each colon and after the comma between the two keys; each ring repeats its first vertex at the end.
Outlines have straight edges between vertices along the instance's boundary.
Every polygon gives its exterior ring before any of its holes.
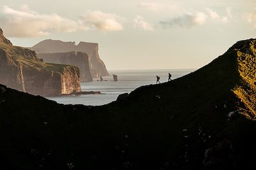
{"type": "Polygon", "coordinates": [[[109,71],[110,75],[116,74],[118,76],[118,81],[113,81],[113,76],[106,76],[103,79],[107,81],[97,81],[97,79],[94,79],[92,82],[81,83],[82,91],[95,91],[102,94],[48,97],[47,99],[62,104],[99,106],[111,103],[120,94],[130,93],[142,85],[156,84],[156,75],[160,76],[160,82],[162,83],[168,81],[168,73],[171,73],[172,79],[175,79],[193,71],[195,69],[109,71]]]}

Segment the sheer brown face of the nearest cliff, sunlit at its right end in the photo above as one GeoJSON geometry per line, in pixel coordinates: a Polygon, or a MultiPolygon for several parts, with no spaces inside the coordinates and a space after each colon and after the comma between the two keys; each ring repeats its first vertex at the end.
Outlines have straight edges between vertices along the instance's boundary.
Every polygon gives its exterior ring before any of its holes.
{"type": "Polygon", "coordinates": [[[81,92],[78,67],[54,64],[50,66],[52,70],[20,65],[25,90],[30,94],[60,96],[81,92]]]}

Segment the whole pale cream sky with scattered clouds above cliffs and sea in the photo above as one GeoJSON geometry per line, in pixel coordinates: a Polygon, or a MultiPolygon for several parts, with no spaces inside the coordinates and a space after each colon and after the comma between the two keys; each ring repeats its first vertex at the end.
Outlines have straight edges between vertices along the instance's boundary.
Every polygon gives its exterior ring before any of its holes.
{"type": "Polygon", "coordinates": [[[107,69],[197,69],[256,37],[255,0],[1,0],[13,45],[99,43],[107,69]]]}

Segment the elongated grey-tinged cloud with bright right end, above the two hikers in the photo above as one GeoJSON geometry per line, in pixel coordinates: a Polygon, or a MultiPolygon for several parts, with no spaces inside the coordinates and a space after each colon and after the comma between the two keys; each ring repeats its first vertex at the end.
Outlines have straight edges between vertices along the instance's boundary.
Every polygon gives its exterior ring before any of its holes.
{"type": "Polygon", "coordinates": [[[205,23],[207,15],[202,12],[186,12],[184,15],[180,17],[170,18],[168,20],[163,20],[160,24],[164,28],[173,27],[174,25],[178,25],[184,28],[190,28],[196,25],[202,25],[205,23]]]}

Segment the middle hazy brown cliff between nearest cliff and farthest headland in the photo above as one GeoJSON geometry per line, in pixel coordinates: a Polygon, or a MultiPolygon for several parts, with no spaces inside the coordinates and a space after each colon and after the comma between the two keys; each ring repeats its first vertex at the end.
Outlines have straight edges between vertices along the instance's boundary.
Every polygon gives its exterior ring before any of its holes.
{"type": "Polygon", "coordinates": [[[77,66],[80,70],[81,81],[93,80],[90,71],[89,57],[84,52],[38,53],[38,57],[43,59],[44,62],[77,66]]]}

